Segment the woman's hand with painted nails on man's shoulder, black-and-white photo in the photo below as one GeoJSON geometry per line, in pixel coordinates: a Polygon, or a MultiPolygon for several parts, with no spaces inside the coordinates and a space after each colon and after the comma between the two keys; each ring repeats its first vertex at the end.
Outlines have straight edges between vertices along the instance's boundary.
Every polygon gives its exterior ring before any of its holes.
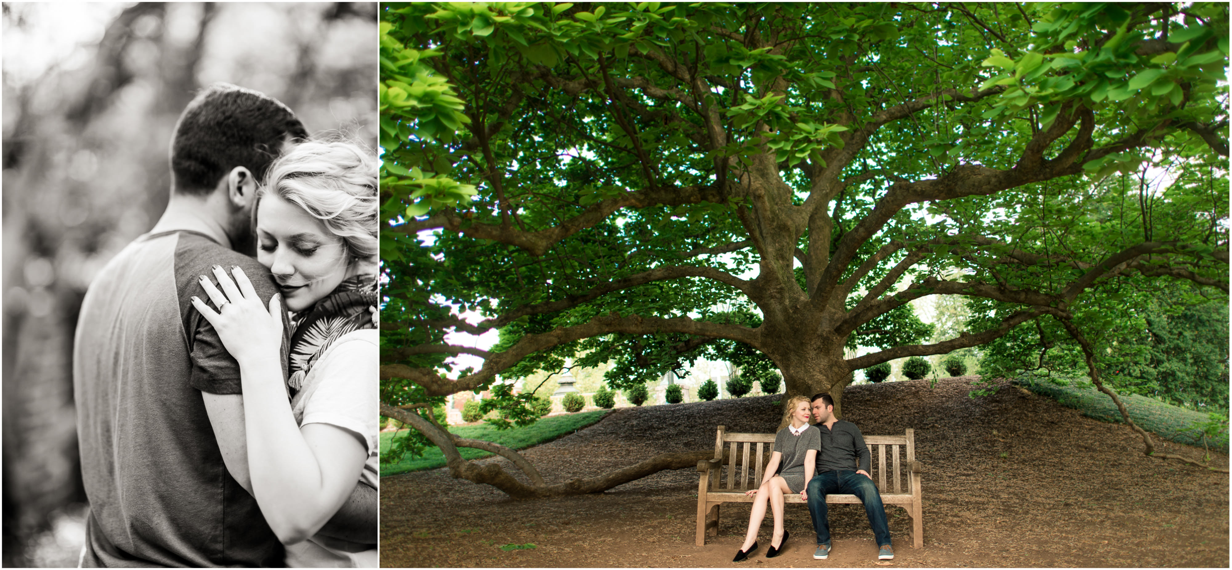
{"type": "Polygon", "coordinates": [[[277,358],[282,348],[281,295],[270,297],[266,310],[243,269],[232,266],[234,281],[219,265],[214,265],[213,273],[217,286],[205,275],[198,281],[218,311],[196,296],[192,297],[192,306],[213,324],[227,352],[237,360],[271,354],[277,358]]]}

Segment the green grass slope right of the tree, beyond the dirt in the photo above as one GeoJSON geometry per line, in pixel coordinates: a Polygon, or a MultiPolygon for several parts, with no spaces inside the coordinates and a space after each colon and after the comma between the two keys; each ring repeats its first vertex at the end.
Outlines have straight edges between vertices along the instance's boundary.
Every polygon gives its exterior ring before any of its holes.
{"type": "MultiPolygon", "coordinates": [[[[1036,380],[1034,382],[1019,380],[1015,384],[1035,394],[1048,396],[1063,406],[1079,410],[1083,416],[1105,422],[1122,422],[1121,412],[1116,410],[1112,399],[1095,389],[1090,382],[1071,382],[1068,386],[1058,386],[1047,380],[1036,380]]],[[[1194,431],[1194,426],[1207,421],[1206,413],[1173,406],[1146,396],[1138,396],[1137,394],[1117,394],[1116,397],[1125,405],[1125,410],[1130,412],[1130,418],[1133,419],[1133,423],[1142,429],[1177,443],[1202,447],[1201,436],[1194,431]]],[[[1209,445],[1211,449],[1228,453],[1228,433],[1223,432],[1218,438],[1210,440],[1209,445]]]]}

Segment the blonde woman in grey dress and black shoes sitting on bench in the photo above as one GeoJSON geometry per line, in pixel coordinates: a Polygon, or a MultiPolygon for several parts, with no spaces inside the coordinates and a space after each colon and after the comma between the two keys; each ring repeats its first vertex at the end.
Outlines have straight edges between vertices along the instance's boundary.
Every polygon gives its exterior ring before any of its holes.
{"type": "Polygon", "coordinates": [[[822,449],[822,432],[808,424],[808,406],[809,401],[804,396],[792,396],[787,400],[782,419],[790,423],[774,438],[774,453],[766,464],[761,486],[745,492],[750,496],[756,495],[756,498],[753,501],[753,513],[749,516],[749,532],[740,550],[732,559],[733,563],[749,558],[749,554],[758,549],[758,531],[766,516],[766,502],[774,510],[774,535],[770,538],[766,558],[777,556],[782,551],[782,545],[787,543],[788,534],[782,529],[784,495],[798,492],[800,498],[808,498],[804,495],[804,485],[813,479],[817,452],[822,449]]]}

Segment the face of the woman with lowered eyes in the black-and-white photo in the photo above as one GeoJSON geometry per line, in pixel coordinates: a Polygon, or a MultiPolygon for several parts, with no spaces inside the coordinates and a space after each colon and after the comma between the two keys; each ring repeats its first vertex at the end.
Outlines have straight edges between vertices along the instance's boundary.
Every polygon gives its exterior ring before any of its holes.
{"type": "Polygon", "coordinates": [[[256,244],[256,260],[274,274],[291,311],[310,307],[346,278],[342,239],[277,195],[266,195],[257,204],[256,244]]]}

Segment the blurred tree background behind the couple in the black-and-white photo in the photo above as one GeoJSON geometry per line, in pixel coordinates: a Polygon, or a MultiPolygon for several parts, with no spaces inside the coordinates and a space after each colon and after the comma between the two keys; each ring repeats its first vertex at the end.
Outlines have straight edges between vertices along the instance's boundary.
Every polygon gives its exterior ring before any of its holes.
{"type": "Polygon", "coordinates": [[[287,104],[314,136],[376,148],[376,10],[4,4],[5,566],[76,565],[78,310],[166,206],[180,111],[228,81],[287,104]]]}

